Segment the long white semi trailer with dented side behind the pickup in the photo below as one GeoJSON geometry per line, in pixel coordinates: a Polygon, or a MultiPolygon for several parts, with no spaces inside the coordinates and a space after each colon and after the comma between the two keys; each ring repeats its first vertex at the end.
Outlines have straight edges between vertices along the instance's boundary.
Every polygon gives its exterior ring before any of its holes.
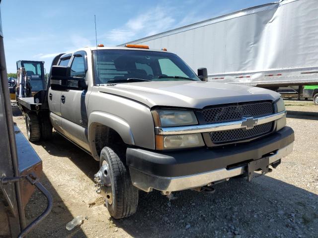
{"type": "Polygon", "coordinates": [[[213,81],[318,84],[318,0],[281,0],[126,44],[167,48],[193,70],[206,67],[213,81]]]}

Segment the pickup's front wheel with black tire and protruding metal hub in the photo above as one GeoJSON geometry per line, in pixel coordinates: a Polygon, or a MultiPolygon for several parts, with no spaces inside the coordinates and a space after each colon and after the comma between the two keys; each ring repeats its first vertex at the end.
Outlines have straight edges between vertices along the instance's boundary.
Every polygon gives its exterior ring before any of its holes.
{"type": "Polygon", "coordinates": [[[120,219],[133,215],[138,205],[138,189],[118,154],[109,147],[100,153],[100,169],[94,179],[97,193],[104,196],[109,214],[120,219]]]}

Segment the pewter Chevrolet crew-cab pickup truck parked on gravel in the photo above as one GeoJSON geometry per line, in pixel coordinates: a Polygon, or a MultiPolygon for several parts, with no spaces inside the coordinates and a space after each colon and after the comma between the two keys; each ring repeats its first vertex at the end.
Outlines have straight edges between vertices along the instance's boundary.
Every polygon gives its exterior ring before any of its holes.
{"type": "MultiPolygon", "coordinates": [[[[97,192],[112,217],[134,214],[139,190],[213,192],[270,172],[293,150],[280,94],[208,82],[206,72],[141,45],[85,47],[53,61],[49,121],[99,161],[97,192]]],[[[29,139],[49,138],[44,116],[26,116],[29,139]]]]}

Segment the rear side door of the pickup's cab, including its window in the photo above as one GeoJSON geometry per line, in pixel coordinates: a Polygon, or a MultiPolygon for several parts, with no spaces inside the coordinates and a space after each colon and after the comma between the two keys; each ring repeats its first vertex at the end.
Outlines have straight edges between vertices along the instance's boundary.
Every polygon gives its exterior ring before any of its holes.
{"type": "MultiPolygon", "coordinates": [[[[68,66],[71,56],[71,54],[62,56],[57,65],[68,66]]],[[[53,127],[60,132],[62,132],[61,95],[61,90],[52,90],[51,87],[49,88],[50,119],[53,127]]]]}

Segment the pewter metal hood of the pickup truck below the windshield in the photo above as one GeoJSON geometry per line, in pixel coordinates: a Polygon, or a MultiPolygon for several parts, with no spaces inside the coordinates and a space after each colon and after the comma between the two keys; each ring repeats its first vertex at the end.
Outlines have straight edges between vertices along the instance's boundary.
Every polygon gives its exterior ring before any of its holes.
{"type": "Polygon", "coordinates": [[[138,101],[152,108],[202,109],[210,105],[279,99],[280,94],[256,87],[203,81],[150,81],[107,84],[99,91],[138,101]]]}

